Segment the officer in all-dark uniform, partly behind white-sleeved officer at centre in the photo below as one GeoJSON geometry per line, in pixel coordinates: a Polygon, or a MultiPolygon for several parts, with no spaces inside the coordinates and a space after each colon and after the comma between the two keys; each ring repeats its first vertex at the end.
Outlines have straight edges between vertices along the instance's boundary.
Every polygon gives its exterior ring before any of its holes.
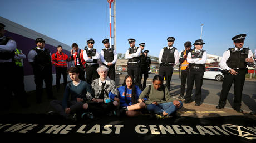
{"type": "Polygon", "coordinates": [[[150,64],[151,64],[151,59],[147,56],[147,53],[149,53],[149,50],[144,50],[144,52],[142,53],[142,54],[144,54],[144,56],[141,57],[140,77],[142,78],[142,75],[144,75],[142,89],[146,88],[147,78],[149,78],[149,69],[150,69],[150,64]]]}

